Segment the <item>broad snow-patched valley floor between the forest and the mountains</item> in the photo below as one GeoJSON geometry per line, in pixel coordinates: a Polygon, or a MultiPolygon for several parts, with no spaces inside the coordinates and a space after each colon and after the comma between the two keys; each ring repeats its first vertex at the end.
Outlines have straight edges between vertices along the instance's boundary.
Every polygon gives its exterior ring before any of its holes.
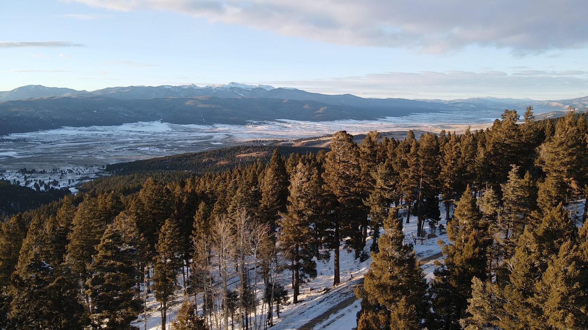
{"type": "Polygon", "coordinates": [[[250,140],[290,140],[323,136],[339,130],[464,130],[468,124],[485,127],[502,110],[415,113],[402,117],[335,122],[276,120],[247,125],[170,124],[138,122],[118,126],[62,127],[15,133],[0,139],[0,170],[55,169],[102,166],[138,159],[232,146],[250,140]]]}

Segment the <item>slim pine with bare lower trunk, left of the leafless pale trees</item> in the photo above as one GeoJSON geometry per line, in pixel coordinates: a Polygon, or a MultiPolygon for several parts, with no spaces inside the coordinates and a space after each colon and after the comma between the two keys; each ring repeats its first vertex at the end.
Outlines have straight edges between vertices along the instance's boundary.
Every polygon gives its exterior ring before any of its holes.
{"type": "Polygon", "coordinates": [[[153,272],[153,287],[155,298],[161,304],[161,324],[165,330],[168,312],[169,297],[172,297],[176,288],[176,275],[182,267],[180,245],[180,232],[178,224],[171,218],[165,221],[159,231],[159,240],[155,248],[155,270],[153,272]]]}

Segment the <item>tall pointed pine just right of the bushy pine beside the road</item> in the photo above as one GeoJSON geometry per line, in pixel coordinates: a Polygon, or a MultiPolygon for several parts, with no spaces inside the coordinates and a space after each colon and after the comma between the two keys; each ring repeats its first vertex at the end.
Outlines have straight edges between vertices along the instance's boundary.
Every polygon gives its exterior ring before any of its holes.
{"type": "Polygon", "coordinates": [[[447,224],[452,244],[443,246],[445,260],[434,274],[430,292],[433,300],[433,328],[459,329],[472,295],[472,279],[487,278],[487,250],[492,244],[488,224],[476,206],[468,186],[457,202],[453,219],[447,224]]]}

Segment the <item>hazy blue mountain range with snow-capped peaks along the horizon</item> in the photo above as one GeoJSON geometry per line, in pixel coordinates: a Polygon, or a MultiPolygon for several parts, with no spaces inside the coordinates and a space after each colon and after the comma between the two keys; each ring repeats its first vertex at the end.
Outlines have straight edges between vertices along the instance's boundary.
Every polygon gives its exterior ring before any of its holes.
{"type": "Polygon", "coordinates": [[[536,113],[549,113],[543,116],[557,116],[569,107],[586,110],[588,97],[554,101],[493,97],[409,100],[323,95],[240,83],[109,87],[92,92],[28,85],[0,92],[0,134],[156,120],[178,124],[246,124],[277,119],[369,120],[432,112],[522,112],[527,106],[533,106],[536,113]]]}

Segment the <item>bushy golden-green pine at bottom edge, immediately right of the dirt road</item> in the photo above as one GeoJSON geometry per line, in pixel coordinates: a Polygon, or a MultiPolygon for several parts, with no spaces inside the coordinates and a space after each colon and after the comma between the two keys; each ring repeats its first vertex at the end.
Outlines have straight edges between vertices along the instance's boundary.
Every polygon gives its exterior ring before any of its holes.
{"type": "Polygon", "coordinates": [[[384,221],[380,251],[372,252],[363,291],[356,289],[358,298],[363,299],[362,310],[358,312],[358,330],[400,329],[397,326],[402,325],[412,329],[420,326],[429,310],[425,275],[412,244],[405,244],[397,211],[391,210],[389,214],[384,221]]]}

